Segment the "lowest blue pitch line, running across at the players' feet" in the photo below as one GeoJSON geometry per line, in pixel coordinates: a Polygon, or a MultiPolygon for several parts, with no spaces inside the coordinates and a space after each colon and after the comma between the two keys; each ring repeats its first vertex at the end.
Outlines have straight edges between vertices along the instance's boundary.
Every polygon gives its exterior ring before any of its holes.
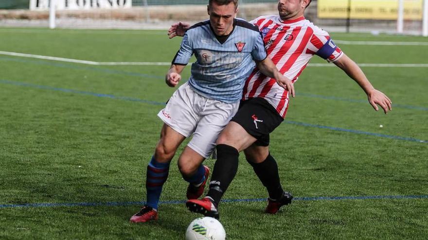
{"type": "MultiPolygon", "coordinates": [[[[332,196],[332,197],[295,197],[294,201],[334,201],[334,200],[374,200],[374,199],[426,199],[428,195],[404,195],[404,196],[332,196]]],[[[264,202],[266,198],[252,199],[225,199],[225,203],[264,202]]],[[[183,204],[186,201],[163,201],[160,204],[183,204]]],[[[1,204],[0,208],[42,208],[42,207],[99,207],[99,206],[129,206],[144,205],[145,202],[98,202],[98,203],[27,203],[27,204],[1,204]]]]}

